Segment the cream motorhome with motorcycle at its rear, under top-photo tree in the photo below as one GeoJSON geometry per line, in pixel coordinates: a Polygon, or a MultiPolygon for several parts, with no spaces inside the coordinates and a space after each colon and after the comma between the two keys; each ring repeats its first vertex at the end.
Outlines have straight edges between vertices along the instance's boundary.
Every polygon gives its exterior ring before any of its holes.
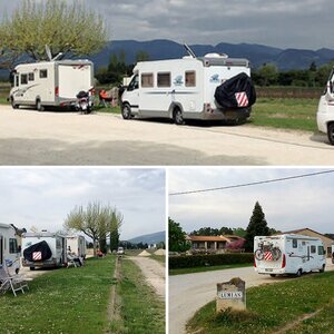
{"type": "Polygon", "coordinates": [[[14,68],[9,100],[12,108],[68,107],[79,91],[94,90],[94,65],[89,60],[52,60],[21,63],[14,68]]]}

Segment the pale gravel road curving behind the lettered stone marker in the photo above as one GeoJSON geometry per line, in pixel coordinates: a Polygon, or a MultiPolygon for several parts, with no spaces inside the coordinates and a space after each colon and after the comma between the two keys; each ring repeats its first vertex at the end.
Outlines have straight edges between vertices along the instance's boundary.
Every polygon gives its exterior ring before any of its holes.
{"type": "MultiPolygon", "coordinates": [[[[326,271],[334,271],[331,259],[327,261],[326,271]]],[[[195,312],[215,299],[216,284],[233,277],[244,279],[246,288],[292,279],[259,275],[253,267],[169,276],[169,334],[185,333],[185,325],[195,312]]]]}

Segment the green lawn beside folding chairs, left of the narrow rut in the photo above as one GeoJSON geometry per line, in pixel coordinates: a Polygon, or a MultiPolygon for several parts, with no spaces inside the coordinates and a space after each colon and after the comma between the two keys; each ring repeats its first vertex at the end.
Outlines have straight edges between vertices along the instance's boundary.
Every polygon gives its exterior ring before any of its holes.
{"type": "Polygon", "coordinates": [[[0,296],[1,333],[104,333],[115,257],[84,267],[49,271],[24,295],[0,296]]]}

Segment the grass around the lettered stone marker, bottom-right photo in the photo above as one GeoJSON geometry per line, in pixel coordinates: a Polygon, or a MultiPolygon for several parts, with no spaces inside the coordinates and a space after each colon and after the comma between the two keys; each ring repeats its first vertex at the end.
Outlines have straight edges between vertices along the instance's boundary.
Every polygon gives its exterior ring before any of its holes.
{"type": "Polygon", "coordinates": [[[215,306],[212,302],[199,310],[189,321],[188,331],[197,334],[264,334],[296,322],[282,333],[334,333],[334,273],[311,274],[249,288],[246,312],[226,311],[217,315],[215,306]]]}

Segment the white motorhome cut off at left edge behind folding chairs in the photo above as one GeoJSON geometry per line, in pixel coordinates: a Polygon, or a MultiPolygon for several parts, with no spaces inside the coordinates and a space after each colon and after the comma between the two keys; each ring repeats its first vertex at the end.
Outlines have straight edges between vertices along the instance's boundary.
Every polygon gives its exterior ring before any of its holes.
{"type": "Polygon", "coordinates": [[[20,269],[20,252],[18,238],[12,225],[0,223],[0,265],[7,264],[10,271],[20,269]]]}

